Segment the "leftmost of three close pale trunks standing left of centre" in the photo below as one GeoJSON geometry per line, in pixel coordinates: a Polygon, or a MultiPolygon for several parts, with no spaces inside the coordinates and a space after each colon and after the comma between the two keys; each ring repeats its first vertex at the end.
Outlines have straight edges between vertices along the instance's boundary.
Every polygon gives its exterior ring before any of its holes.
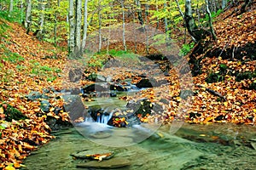
{"type": "Polygon", "coordinates": [[[69,0],[69,58],[73,59],[75,46],[75,26],[74,26],[73,0],[69,0]]]}

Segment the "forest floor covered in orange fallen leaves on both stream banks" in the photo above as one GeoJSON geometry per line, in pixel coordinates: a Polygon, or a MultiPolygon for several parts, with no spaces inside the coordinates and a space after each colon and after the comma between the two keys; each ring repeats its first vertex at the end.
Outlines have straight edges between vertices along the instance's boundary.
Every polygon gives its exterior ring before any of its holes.
{"type": "MultiPolygon", "coordinates": [[[[256,10],[255,5],[244,13],[235,8],[215,20],[217,41],[207,37],[201,46],[195,46],[184,57],[187,61],[192,59],[191,70],[195,76],[193,103],[184,116],[186,122],[233,122],[255,126],[256,10]]],[[[55,93],[63,88],[62,71],[67,66],[67,52],[27,35],[18,24],[0,20],[0,26],[0,167],[15,169],[23,166],[22,160],[31,150],[54,138],[46,123],[49,116],[68,122],[61,94],[55,93]],[[40,107],[43,99],[28,99],[32,92],[48,96],[49,111],[40,107]],[[17,109],[27,119],[8,120],[10,108],[17,109]],[[56,108],[59,108],[57,112],[56,108]]],[[[131,77],[125,75],[125,71],[118,73],[116,79],[131,77]]],[[[177,70],[171,66],[168,73],[177,74],[177,70]]],[[[176,116],[182,99],[177,77],[165,79],[172,82],[167,89],[172,93],[165,96],[170,103],[165,106],[161,119],[169,123],[176,116]]],[[[134,77],[135,82],[139,80],[134,77]]],[[[81,82],[81,86],[91,83],[81,82]]],[[[149,89],[139,95],[155,101],[154,94],[162,90],[166,89],[154,88],[154,92],[149,89]]],[[[140,118],[142,122],[150,122],[150,116],[140,118]]]]}

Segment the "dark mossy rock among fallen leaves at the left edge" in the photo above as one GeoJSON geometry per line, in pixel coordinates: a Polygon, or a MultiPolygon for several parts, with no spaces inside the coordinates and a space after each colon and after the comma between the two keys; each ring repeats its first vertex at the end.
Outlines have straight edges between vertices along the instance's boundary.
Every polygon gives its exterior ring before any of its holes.
{"type": "Polygon", "coordinates": [[[24,116],[19,110],[15,109],[11,105],[3,104],[0,105],[0,107],[3,107],[3,113],[5,114],[5,120],[7,122],[11,122],[13,119],[15,121],[19,121],[21,119],[27,119],[26,116],[24,116]]]}

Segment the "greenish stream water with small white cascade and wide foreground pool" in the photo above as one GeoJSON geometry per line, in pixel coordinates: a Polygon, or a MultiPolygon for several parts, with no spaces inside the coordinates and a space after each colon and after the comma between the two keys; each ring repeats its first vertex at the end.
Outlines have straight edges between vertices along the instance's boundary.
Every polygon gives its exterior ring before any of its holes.
{"type": "Polygon", "coordinates": [[[56,138],[33,151],[22,169],[256,169],[256,127],[184,123],[175,134],[170,133],[170,125],[110,127],[111,111],[125,107],[125,101],[98,98],[86,105],[100,105],[109,115],[97,116],[95,121],[85,117],[78,126],[53,133],[56,138]],[[103,161],[71,156],[84,150],[94,154],[108,150],[114,156],[103,161]]]}

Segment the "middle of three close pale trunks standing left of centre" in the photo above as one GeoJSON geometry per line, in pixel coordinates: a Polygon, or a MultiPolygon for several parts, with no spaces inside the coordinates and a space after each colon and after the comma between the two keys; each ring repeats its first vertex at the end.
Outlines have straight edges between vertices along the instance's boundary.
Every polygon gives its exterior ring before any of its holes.
{"type": "Polygon", "coordinates": [[[81,54],[82,0],[76,0],[75,54],[81,54]]]}

